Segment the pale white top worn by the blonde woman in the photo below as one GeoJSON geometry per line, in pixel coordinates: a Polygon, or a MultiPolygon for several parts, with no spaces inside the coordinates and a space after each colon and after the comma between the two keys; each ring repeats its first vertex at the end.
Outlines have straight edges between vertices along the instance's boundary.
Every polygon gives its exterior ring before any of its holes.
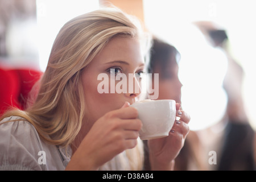
{"type": "MultiPolygon", "coordinates": [[[[9,117],[0,123],[20,119],[9,117]]],[[[0,170],[64,170],[71,156],[64,148],[44,142],[27,121],[0,125],[0,170]]]]}

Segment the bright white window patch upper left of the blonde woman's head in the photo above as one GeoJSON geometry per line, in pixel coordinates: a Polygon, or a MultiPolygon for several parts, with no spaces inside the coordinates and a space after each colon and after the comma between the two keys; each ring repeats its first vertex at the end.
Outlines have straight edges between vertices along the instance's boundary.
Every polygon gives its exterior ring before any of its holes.
{"type": "Polygon", "coordinates": [[[81,14],[98,9],[95,0],[37,0],[37,20],[39,30],[39,63],[45,71],[52,44],[60,28],[81,14]]]}

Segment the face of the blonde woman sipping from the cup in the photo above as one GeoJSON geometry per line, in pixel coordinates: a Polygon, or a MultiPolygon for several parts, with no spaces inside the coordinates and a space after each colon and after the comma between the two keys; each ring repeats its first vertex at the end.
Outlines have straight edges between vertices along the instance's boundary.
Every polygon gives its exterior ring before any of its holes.
{"type": "MultiPolygon", "coordinates": [[[[110,77],[110,74],[117,76],[119,73],[124,73],[127,77],[127,85],[125,86],[128,88],[129,73],[141,74],[143,71],[144,59],[139,41],[121,36],[111,39],[102,51],[94,57],[88,67],[82,71],[81,80],[84,88],[86,119],[94,123],[108,111],[121,108],[125,101],[133,104],[135,98],[139,96],[140,92],[135,92],[135,89],[132,92],[127,89],[126,93],[116,93],[116,90],[115,93],[110,93],[110,86],[113,89],[113,81],[115,82],[114,86],[120,82],[110,77]],[[101,73],[105,73],[103,74],[105,77],[100,77],[102,80],[97,79],[101,73]],[[106,76],[108,76],[108,80],[105,80],[106,76]],[[108,82],[108,85],[105,84],[104,86],[109,87],[107,89],[109,93],[99,92],[98,85],[101,84],[100,89],[102,89],[103,81],[108,82]]],[[[138,82],[134,82],[138,86],[138,82]]]]}

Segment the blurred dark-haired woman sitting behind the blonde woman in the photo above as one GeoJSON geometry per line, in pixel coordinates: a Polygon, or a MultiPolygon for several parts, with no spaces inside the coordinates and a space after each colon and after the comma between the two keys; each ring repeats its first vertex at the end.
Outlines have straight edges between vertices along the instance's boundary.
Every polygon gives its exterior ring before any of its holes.
{"type": "MultiPolygon", "coordinates": [[[[154,75],[159,74],[159,100],[175,100],[181,103],[181,87],[183,86],[179,80],[179,60],[180,53],[177,49],[160,40],[154,38],[151,47],[150,64],[148,72],[154,75]]],[[[154,79],[152,79],[154,80],[154,79]]],[[[176,121],[176,125],[180,125],[180,121],[176,121]]],[[[145,154],[147,154],[146,144],[145,154]]],[[[200,142],[197,134],[190,131],[185,140],[184,147],[175,160],[175,170],[204,170],[204,163],[200,160],[200,142]]],[[[146,169],[150,169],[150,165],[145,160],[146,169]]]]}

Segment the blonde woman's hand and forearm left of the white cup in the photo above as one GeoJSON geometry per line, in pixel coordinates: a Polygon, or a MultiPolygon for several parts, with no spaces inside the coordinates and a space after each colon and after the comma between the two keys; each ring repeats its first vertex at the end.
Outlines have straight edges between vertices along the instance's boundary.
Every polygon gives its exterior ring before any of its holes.
{"type": "Polygon", "coordinates": [[[137,109],[129,107],[129,102],[106,113],[94,123],[66,169],[96,170],[115,155],[135,147],[142,127],[137,116],[137,109]]]}

